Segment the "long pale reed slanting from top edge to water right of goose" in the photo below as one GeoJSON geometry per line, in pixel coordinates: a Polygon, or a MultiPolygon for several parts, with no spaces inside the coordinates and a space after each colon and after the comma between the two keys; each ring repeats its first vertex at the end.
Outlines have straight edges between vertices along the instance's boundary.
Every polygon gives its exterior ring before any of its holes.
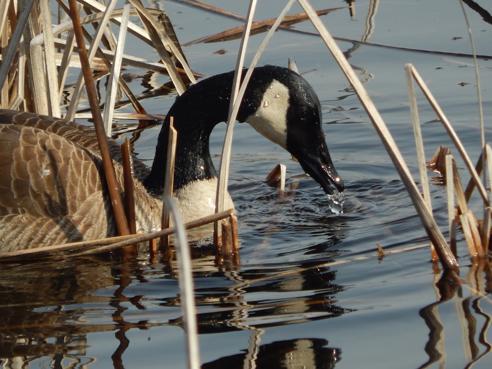
{"type": "Polygon", "coordinates": [[[386,148],[388,154],[390,155],[393,164],[395,165],[395,168],[400,174],[400,178],[408,191],[408,194],[414,204],[414,207],[418,215],[420,216],[422,224],[429,238],[431,239],[432,244],[436,247],[436,251],[439,256],[439,260],[443,265],[443,268],[446,271],[450,271],[455,279],[460,280],[458,277],[458,273],[459,273],[458,262],[454,257],[454,255],[452,254],[452,252],[449,250],[449,247],[447,245],[446,240],[444,239],[444,236],[442,235],[437,224],[435,223],[435,220],[432,218],[432,215],[429,213],[427,206],[424,200],[422,199],[422,196],[420,195],[420,191],[415,185],[415,182],[412,179],[410,171],[408,170],[408,167],[403,157],[400,154],[400,150],[398,149],[395,141],[393,140],[393,137],[391,136],[388,128],[386,127],[386,124],[382,120],[379,112],[377,111],[374,104],[372,103],[369,94],[364,89],[361,81],[357,78],[357,75],[355,74],[350,64],[347,62],[345,56],[339,49],[337,43],[335,42],[331,34],[328,32],[328,30],[325,28],[325,26],[323,25],[323,23],[321,22],[321,20],[319,19],[319,17],[317,16],[316,12],[309,4],[309,2],[307,0],[298,0],[298,2],[303,7],[304,11],[306,11],[306,13],[309,15],[309,19],[311,20],[311,22],[313,23],[314,27],[319,32],[321,37],[323,38],[325,44],[327,45],[328,49],[334,56],[335,60],[338,62],[338,65],[340,66],[341,70],[345,74],[349,83],[352,85],[354,91],[357,93],[362,105],[364,106],[367,114],[369,115],[369,118],[373,123],[374,128],[376,129],[376,132],[378,133],[384,147],[386,148]]]}

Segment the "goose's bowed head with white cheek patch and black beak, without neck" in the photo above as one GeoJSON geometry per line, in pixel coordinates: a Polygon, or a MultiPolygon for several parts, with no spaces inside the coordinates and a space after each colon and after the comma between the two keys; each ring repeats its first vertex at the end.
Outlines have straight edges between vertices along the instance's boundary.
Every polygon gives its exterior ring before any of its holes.
{"type": "Polygon", "coordinates": [[[344,190],[326,146],[318,96],[303,77],[282,67],[256,68],[242,108],[240,121],[292,154],[326,194],[344,190]]]}

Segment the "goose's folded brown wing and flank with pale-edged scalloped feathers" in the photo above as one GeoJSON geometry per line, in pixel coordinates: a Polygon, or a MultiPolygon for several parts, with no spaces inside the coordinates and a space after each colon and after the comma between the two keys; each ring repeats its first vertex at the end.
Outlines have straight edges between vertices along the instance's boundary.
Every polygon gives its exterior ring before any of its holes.
{"type": "Polygon", "coordinates": [[[0,124],[0,147],[2,250],[114,234],[97,156],[56,134],[13,124],[0,124]]]}

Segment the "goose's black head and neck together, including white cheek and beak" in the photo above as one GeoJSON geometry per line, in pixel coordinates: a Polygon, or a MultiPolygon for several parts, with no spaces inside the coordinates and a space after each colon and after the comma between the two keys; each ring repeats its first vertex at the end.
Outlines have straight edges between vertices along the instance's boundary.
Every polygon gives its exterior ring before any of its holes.
{"type": "MultiPolygon", "coordinates": [[[[151,173],[144,181],[151,194],[162,193],[169,117],[174,117],[178,131],[175,191],[216,177],[209,138],[215,125],[227,120],[233,78],[234,72],[209,77],[177,98],[159,134],[151,173]]],[[[292,154],[326,194],[344,190],[325,142],[319,99],[298,73],[272,65],[255,68],[237,120],[249,123],[292,154]]]]}

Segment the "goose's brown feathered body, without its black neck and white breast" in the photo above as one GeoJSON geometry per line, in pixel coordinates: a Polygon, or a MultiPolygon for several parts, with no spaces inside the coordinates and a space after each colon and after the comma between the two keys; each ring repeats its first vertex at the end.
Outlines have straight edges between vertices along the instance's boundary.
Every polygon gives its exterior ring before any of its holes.
{"type": "MultiPolygon", "coordinates": [[[[0,252],[117,234],[91,128],[0,110],[0,148],[0,252]]],[[[159,229],[161,202],[139,181],[134,194],[138,231],[159,229]]]]}

